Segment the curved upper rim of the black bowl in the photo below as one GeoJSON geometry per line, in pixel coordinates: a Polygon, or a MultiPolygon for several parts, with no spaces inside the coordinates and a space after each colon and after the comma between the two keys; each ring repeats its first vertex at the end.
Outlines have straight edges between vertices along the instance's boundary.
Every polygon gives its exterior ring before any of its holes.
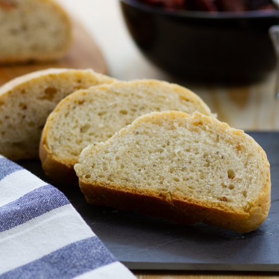
{"type": "MultiPolygon", "coordinates": [[[[120,2],[131,7],[141,9],[147,12],[152,12],[160,15],[179,16],[187,18],[208,18],[208,19],[246,19],[246,18],[278,18],[279,10],[252,10],[244,12],[204,12],[204,11],[187,11],[165,9],[154,7],[149,4],[142,3],[138,0],[120,0],[120,2]]],[[[278,20],[279,24],[279,20],[278,20]]]]}

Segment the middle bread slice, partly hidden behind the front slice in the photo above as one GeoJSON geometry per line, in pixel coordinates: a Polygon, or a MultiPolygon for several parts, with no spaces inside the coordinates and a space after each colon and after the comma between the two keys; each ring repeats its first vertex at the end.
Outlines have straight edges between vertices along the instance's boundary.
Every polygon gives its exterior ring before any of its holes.
{"type": "Polygon", "coordinates": [[[106,141],[138,116],[166,110],[211,114],[193,92],[156,80],[115,82],[75,92],[48,117],[40,145],[43,169],[57,182],[78,184],[73,167],[83,148],[106,141]]]}

